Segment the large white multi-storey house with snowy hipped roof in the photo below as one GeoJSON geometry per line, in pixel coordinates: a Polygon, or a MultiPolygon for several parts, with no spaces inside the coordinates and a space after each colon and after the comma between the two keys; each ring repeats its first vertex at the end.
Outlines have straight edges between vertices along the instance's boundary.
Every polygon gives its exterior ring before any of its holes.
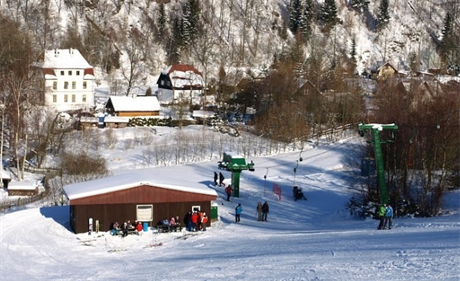
{"type": "Polygon", "coordinates": [[[46,50],[42,62],[46,106],[59,112],[94,107],[94,69],[75,49],[46,50]]]}

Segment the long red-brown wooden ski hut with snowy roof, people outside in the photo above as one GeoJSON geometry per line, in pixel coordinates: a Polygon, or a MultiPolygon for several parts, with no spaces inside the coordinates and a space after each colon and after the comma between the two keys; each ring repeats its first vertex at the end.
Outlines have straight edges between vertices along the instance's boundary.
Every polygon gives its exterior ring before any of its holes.
{"type": "Polygon", "coordinates": [[[179,216],[183,225],[188,211],[211,213],[211,202],[217,199],[215,190],[198,181],[180,179],[174,171],[169,176],[163,171],[134,170],[64,186],[73,231],[87,232],[90,219],[94,224],[98,221],[100,231],[108,231],[113,222],[138,220],[153,226],[179,216]]]}

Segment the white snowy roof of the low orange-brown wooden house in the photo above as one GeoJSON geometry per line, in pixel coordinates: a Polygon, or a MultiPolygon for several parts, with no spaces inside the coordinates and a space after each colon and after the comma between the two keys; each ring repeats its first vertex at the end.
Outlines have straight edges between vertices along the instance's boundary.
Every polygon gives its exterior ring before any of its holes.
{"type": "Polygon", "coordinates": [[[160,103],[156,96],[111,96],[115,111],[160,111],[160,103]]]}

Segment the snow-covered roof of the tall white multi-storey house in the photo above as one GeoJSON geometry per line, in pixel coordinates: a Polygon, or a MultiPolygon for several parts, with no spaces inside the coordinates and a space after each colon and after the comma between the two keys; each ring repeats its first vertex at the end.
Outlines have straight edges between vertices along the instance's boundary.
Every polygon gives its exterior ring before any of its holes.
{"type": "Polygon", "coordinates": [[[46,50],[42,67],[54,69],[92,68],[92,66],[89,65],[86,59],[76,49],[46,50]]]}

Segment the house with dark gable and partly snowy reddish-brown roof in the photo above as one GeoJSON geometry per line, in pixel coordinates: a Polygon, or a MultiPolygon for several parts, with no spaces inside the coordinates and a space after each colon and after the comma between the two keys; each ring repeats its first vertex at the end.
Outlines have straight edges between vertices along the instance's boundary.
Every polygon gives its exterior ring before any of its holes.
{"type": "Polygon", "coordinates": [[[187,64],[173,64],[165,68],[158,77],[157,84],[156,96],[162,104],[178,100],[200,103],[205,86],[201,73],[187,64]]]}

